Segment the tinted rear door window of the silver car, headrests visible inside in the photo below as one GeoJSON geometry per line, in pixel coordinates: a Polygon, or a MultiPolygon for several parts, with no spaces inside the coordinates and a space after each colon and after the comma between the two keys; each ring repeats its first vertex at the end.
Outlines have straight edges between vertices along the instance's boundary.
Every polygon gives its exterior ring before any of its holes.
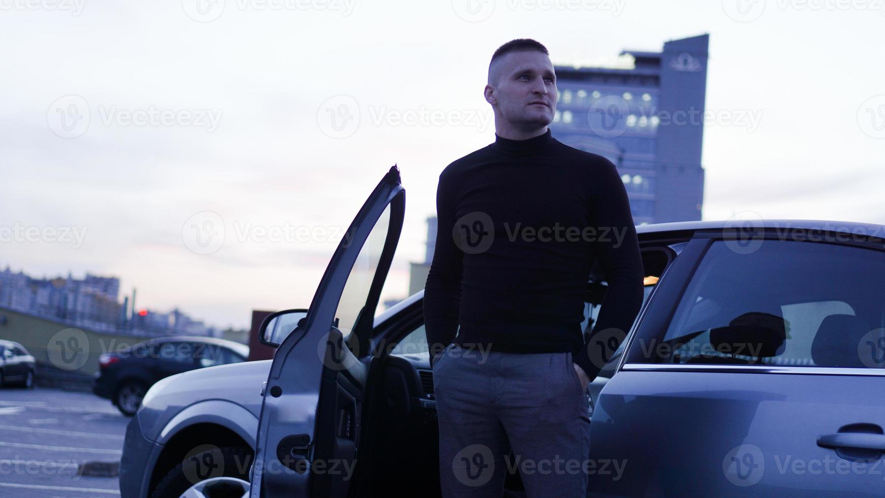
{"type": "Polygon", "coordinates": [[[651,363],[885,367],[885,253],[766,240],[714,241],[651,363]]]}

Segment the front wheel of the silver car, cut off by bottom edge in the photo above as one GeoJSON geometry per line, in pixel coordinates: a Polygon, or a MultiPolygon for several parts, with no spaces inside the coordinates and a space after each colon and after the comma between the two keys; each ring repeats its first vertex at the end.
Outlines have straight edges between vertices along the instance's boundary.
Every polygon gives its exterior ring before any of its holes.
{"type": "MultiPolygon", "coordinates": [[[[201,445],[202,448],[203,445],[201,445]]],[[[165,498],[167,496],[200,496],[197,491],[206,498],[212,498],[212,487],[200,487],[201,483],[209,481],[217,482],[218,496],[241,496],[232,494],[227,488],[234,481],[219,478],[235,478],[249,481],[249,471],[252,465],[252,451],[249,448],[226,446],[218,448],[212,445],[204,445],[204,451],[194,455],[188,455],[182,462],[175,465],[154,488],[150,498],[165,498]],[[216,481],[218,479],[218,481],[216,481]],[[204,489],[205,488],[205,489],[204,489]]]]}

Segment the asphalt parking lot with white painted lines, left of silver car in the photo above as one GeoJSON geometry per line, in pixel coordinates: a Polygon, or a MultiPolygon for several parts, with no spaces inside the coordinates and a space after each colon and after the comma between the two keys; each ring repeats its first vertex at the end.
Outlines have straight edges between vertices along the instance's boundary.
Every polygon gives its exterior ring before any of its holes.
{"type": "Polygon", "coordinates": [[[0,389],[0,496],[119,496],[116,476],[77,470],[88,461],[119,461],[128,422],[91,393],[0,389]]]}

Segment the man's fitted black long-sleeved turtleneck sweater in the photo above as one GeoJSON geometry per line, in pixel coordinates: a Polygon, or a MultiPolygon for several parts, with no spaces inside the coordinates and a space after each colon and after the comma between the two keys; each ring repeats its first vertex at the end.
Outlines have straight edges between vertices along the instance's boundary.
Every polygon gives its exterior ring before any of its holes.
{"type": "Polygon", "coordinates": [[[549,128],[528,140],[495,137],[439,177],[424,291],[431,362],[452,341],[476,354],[572,351],[594,379],[608,355],[600,358],[589,344],[608,328],[626,333],[643,301],[624,184],[611,161],[558,142],[549,128]],[[596,258],[608,290],[584,341],[584,295],[596,258]]]}

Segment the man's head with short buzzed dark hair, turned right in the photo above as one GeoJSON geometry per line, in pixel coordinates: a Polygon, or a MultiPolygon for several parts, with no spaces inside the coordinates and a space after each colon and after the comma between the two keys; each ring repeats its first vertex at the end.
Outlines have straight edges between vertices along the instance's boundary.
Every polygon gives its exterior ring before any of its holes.
{"type": "Polygon", "coordinates": [[[535,136],[545,130],[557,100],[556,73],[546,47],[529,38],[501,45],[489,63],[485,97],[495,111],[499,135],[535,136]]]}

